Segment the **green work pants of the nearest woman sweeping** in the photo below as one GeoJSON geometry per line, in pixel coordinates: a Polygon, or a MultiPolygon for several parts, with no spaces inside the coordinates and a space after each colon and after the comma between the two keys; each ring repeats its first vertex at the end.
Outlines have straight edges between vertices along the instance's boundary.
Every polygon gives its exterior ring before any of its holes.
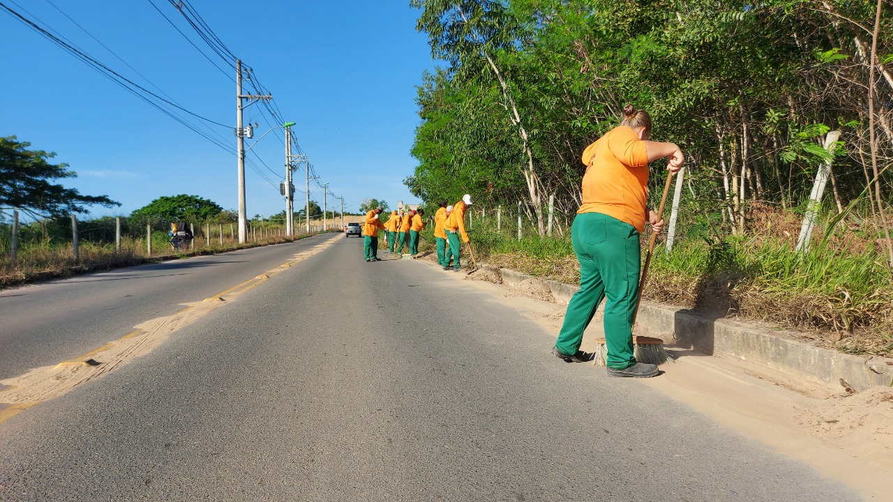
{"type": "Polygon", "coordinates": [[[583,331],[598,305],[605,302],[605,342],[609,368],[636,364],[632,354],[632,315],[638,296],[641,249],[638,230],[602,213],[577,214],[571,228],[573,251],[580,262],[580,290],[571,298],[555,347],[576,354],[583,331]]]}

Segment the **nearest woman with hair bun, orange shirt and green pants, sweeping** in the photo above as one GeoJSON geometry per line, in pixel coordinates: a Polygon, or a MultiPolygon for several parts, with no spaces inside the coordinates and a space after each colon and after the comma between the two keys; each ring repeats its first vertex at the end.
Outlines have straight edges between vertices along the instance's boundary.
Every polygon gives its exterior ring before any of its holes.
{"type": "Polygon", "coordinates": [[[582,160],[583,199],[571,237],[580,261],[580,290],[571,298],[552,354],[569,362],[592,360],[580,350],[583,331],[605,302],[607,372],[614,377],[652,377],[655,364],[633,356],[632,317],[638,300],[641,260],[639,234],[645,222],[656,232],[663,219],[647,203],[648,163],[670,157],[667,170],[678,172],[685,157],[679,146],[649,141],[651,117],[632,105],[623,107],[620,126],[586,147],[582,160]]]}

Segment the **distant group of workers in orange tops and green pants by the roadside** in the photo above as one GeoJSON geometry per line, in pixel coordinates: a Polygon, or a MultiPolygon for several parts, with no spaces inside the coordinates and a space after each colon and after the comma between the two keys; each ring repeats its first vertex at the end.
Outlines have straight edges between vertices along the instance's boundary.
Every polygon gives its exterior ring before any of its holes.
{"type": "MultiPolygon", "coordinates": [[[[434,214],[434,238],[437,240],[438,265],[443,270],[459,272],[462,265],[459,263],[459,238],[465,244],[470,242],[465,231],[465,212],[472,205],[472,196],[465,194],[462,200],[454,205],[440,203],[440,208],[434,214]]],[[[363,225],[363,258],[367,262],[379,262],[379,230],[383,230],[388,238],[388,251],[392,255],[403,255],[403,247],[409,249],[409,254],[416,257],[419,254],[419,233],[425,230],[428,222],[423,219],[424,210],[413,209],[410,211],[392,211],[388,221],[380,221],[381,206],[366,213],[363,225]]],[[[430,221],[430,220],[429,220],[430,221]]]]}

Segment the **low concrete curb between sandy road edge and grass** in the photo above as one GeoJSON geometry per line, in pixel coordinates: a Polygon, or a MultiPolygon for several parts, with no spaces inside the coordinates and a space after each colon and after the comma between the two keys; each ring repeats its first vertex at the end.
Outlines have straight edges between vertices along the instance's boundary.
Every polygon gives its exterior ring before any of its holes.
{"type": "MultiPolygon", "coordinates": [[[[498,269],[503,283],[516,287],[533,276],[498,269]]],[[[567,305],[580,286],[546,280],[555,303],[567,305]]],[[[721,353],[806,381],[830,386],[846,383],[856,390],[893,384],[893,359],[861,357],[777,337],[772,329],[732,319],[711,319],[696,312],[642,302],[638,322],[668,343],[712,356],[721,353]]],[[[779,330],[774,330],[778,332],[779,330]]]]}

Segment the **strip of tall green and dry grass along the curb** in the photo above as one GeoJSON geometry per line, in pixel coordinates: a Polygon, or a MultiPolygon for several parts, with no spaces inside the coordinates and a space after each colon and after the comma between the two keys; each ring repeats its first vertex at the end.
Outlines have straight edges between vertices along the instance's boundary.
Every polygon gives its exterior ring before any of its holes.
{"type": "MultiPolygon", "coordinates": [[[[569,236],[539,238],[473,223],[478,259],[532,275],[579,283],[569,236]]],[[[820,345],[893,356],[893,282],[872,245],[856,249],[816,240],[806,253],[767,236],[677,240],[672,252],[655,247],[647,300],[697,308],[714,316],[772,322],[807,330],[820,345]]],[[[642,238],[642,253],[647,238],[642,238]]]]}

